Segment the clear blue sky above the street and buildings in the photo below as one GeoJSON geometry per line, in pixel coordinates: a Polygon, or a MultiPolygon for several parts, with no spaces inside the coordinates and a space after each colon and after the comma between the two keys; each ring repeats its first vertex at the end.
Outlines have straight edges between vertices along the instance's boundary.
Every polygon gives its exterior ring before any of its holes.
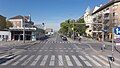
{"type": "Polygon", "coordinates": [[[89,6],[94,9],[110,0],[0,0],[0,15],[11,18],[31,14],[35,24],[45,23],[48,28],[59,30],[67,19],[77,20],[89,6]]]}

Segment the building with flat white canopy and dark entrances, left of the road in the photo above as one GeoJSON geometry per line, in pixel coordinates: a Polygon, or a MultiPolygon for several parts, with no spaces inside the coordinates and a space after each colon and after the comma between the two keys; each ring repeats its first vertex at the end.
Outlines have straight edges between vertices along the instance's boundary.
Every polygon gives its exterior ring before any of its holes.
{"type": "Polygon", "coordinates": [[[9,28],[12,40],[23,40],[23,30],[25,30],[25,40],[36,38],[35,35],[33,35],[35,34],[36,28],[32,27],[34,23],[30,18],[30,16],[18,15],[8,19],[13,24],[13,27],[9,28]]]}

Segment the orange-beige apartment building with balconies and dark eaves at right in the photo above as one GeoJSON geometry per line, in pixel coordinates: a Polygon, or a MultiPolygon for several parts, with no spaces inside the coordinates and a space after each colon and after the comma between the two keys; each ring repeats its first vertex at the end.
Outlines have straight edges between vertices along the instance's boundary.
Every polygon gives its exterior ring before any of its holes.
{"type": "Polygon", "coordinates": [[[112,28],[120,25],[120,0],[110,0],[105,5],[92,13],[93,15],[93,37],[101,37],[111,41],[112,28]]]}

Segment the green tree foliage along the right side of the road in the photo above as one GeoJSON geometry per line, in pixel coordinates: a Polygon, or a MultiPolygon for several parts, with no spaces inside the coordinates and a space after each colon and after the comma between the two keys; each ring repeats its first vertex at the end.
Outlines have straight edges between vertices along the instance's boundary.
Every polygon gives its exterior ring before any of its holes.
{"type": "Polygon", "coordinates": [[[60,30],[59,32],[60,33],[63,33],[63,34],[66,34],[66,33],[73,33],[73,23],[74,23],[74,32],[75,33],[79,33],[79,34],[84,34],[85,33],[85,30],[86,30],[86,27],[85,27],[85,23],[84,22],[84,19],[82,18],[79,18],[78,20],[74,20],[74,19],[68,19],[68,20],[65,20],[64,22],[62,22],[60,24],[60,30]],[[78,23],[81,23],[81,24],[78,24],[78,23]]]}

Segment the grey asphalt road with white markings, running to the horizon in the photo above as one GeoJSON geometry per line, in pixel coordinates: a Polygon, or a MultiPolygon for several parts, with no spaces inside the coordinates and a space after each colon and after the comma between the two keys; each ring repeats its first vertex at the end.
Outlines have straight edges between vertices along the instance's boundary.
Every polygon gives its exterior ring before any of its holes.
{"type": "MultiPolygon", "coordinates": [[[[55,34],[28,48],[22,46],[23,50],[11,59],[2,59],[6,61],[1,62],[0,68],[110,68],[107,56],[91,48],[99,49],[98,45],[94,42],[78,45],[55,34]]],[[[112,68],[120,68],[120,61],[116,60],[112,68]]]]}

